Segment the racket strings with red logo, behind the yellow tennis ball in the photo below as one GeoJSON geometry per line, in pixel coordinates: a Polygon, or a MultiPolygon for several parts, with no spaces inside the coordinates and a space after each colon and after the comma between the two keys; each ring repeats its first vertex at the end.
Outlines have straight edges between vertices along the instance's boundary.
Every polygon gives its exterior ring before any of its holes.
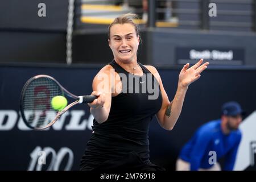
{"type": "Polygon", "coordinates": [[[27,86],[23,97],[23,110],[28,124],[32,127],[48,125],[56,116],[51,107],[55,96],[63,96],[63,90],[47,77],[36,78],[27,86]]]}

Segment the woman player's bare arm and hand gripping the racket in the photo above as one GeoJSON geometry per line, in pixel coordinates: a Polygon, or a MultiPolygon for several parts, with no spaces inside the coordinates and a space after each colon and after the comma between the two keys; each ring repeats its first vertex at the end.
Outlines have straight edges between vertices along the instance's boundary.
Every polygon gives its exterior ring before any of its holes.
{"type": "Polygon", "coordinates": [[[90,113],[98,123],[105,122],[109,117],[113,86],[111,68],[110,65],[106,65],[93,79],[92,95],[96,95],[98,98],[88,105],[90,106],[90,113]]]}

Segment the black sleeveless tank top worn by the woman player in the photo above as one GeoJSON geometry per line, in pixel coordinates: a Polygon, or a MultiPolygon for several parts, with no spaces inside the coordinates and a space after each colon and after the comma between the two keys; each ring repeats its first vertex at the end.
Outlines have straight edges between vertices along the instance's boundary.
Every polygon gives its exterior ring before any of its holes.
{"type": "Polygon", "coordinates": [[[162,106],[158,81],[141,63],[138,64],[143,76],[125,71],[114,60],[109,64],[121,77],[122,92],[112,97],[107,121],[99,124],[93,120],[93,133],[82,157],[82,166],[96,167],[131,151],[143,161],[149,161],[148,129],[152,117],[162,106]]]}

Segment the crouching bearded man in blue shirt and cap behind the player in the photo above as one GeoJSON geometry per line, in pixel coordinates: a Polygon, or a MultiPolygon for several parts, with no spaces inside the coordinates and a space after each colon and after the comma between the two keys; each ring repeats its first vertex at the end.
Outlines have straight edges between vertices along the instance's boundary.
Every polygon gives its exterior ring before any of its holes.
{"type": "Polygon", "coordinates": [[[236,162],[242,133],[238,126],[243,111],[237,102],[226,102],[221,118],[205,123],[181,149],[176,162],[177,171],[220,171],[218,159],[225,156],[224,170],[232,171],[236,162]]]}

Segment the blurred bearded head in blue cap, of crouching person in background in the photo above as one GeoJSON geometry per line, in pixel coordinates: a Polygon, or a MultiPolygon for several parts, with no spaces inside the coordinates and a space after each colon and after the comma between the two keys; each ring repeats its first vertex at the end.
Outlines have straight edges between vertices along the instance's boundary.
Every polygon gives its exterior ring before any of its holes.
{"type": "Polygon", "coordinates": [[[221,107],[221,120],[229,131],[238,129],[243,115],[240,104],[235,101],[226,102],[221,107]]]}

